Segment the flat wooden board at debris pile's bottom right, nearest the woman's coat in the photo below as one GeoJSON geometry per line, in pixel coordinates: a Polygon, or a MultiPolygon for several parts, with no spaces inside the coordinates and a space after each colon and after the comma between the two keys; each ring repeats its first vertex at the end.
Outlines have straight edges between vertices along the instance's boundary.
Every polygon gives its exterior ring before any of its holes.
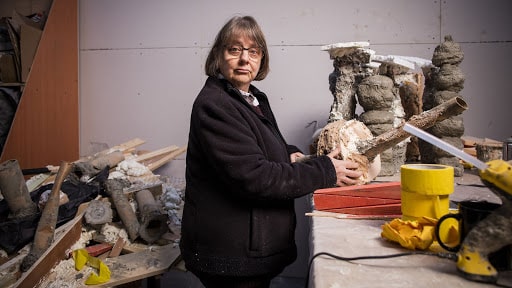
{"type": "Polygon", "coordinates": [[[151,249],[107,258],[110,281],[87,287],[112,287],[165,273],[179,260],[180,249],[176,245],[152,246],[151,249]]]}

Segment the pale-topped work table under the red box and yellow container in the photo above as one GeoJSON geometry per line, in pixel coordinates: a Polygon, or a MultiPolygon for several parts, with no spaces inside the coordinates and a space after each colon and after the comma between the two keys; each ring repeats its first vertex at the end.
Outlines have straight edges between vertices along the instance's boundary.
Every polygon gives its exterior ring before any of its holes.
{"type": "MultiPolygon", "coordinates": [[[[455,192],[450,195],[451,200],[483,198],[496,201],[498,199],[488,188],[473,186],[481,184],[476,175],[457,177],[455,183],[457,185],[455,192]]],[[[381,226],[393,218],[339,219],[329,217],[328,214],[324,216],[327,217],[311,217],[311,257],[320,252],[341,257],[412,252],[398,243],[381,237],[381,226]]],[[[434,243],[431,248],[441,249],[434,245],[438,244],[434,243]]],[[[454,261],[431,255],[409,255],[352,262],[321,255],[314,259],[309,275],[310,288],[497,287],[493,284],[466,280],[458,274],[454,261]]],[[[511,271],[500,273],[498,283],[503,285],[502,287],[512,287],[511,271]]]]}

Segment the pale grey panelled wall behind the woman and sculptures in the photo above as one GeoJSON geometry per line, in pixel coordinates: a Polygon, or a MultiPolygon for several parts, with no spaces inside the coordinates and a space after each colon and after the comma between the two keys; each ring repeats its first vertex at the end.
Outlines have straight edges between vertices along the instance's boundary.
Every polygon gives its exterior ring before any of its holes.
{"type": "MultiPolygon", "coordinates": [[[[431,59],[448,34],[465,53],[466,135],[503,140],[512,135],[511,8],[509,0],[81,0],[80,153],[135,137],[147,141],[142,149],[186,145],[209,46],[236,14],[254,16],[266,33],[271,73],[255,84],[288,141],[306,151],[333,100],[322,45],[368,41],[380,55],[431,59]]],[[[157,172],[182,177],[183,159],[157,172]]],[[[297,202],[301,253],[287,273],[305,275],[307,201],[297,202]]]]}

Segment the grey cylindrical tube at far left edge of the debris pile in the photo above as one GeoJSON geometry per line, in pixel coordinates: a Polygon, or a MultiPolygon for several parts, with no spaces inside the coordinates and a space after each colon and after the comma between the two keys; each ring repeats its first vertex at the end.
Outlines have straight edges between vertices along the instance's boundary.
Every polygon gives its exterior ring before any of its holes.
{"type": "Polygon", "coordinates": [[[0,164],[0,192],[9,206],[9,217],[20,219],[37,213],[17,160],[0,164]]]}

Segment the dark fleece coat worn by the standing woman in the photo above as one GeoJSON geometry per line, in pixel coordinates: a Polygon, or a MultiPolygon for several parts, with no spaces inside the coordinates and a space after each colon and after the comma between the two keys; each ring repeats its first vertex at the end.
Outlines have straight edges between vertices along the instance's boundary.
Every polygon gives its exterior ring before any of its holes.
{"type": "Polygon", "coordinates": [[[327,156],[290,163],[267,96],[259,116],[226,80],[197,96],[186,158],[181,252],[187,269],[226,276],[280,273],[297,257],[294,199],[334,187],[327,156]]]}

